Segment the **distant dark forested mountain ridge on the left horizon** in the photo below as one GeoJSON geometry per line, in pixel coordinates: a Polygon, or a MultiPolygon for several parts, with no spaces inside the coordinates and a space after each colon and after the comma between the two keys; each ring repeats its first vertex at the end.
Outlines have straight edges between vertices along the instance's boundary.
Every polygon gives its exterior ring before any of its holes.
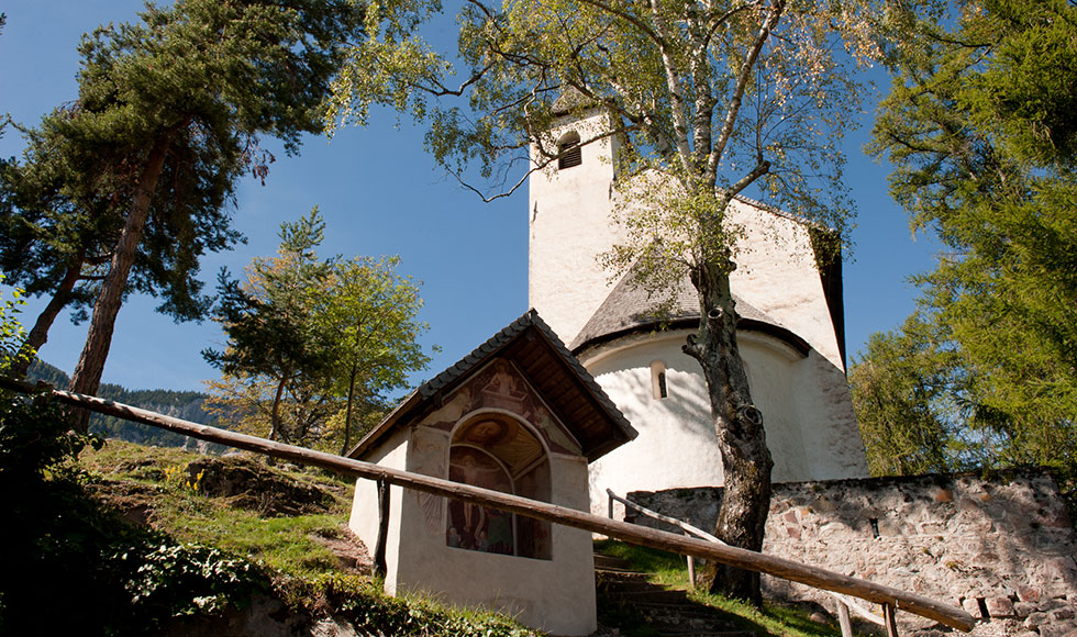
{"type": "MultiPolygon", "coordinates": [[[[59,389],[67,389],[70,383],[70,377],[67,373],[41,360],[34,360],[31,365],[27,380],[31,382],[43,380],[59,389]]],[[[98,391],[98,395],[106,400],[134,405],[193,423],[213,424],[212,417],[202,410],[202,402],[207,394],[197,391],[129,390],[119,384],[104,383],[98,391]]],[[[143,445],[200,448],[202,450],[223,449],[219,445],[207,446],[206,443],[187,436],[101,414],[91,416],[90,432],[102,434],[107,438],[120,438],[143,445]]]]}

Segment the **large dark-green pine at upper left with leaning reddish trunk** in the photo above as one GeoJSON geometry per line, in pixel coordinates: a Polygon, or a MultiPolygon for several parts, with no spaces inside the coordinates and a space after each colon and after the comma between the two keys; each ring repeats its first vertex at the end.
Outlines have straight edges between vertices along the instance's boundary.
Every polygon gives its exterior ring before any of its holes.
{"type": "Polygon", "coordinates": [[[262,138],[293,153],[321,131],[360,15],[348,0],[179,0],[84,38],[78,99],[32,137],[25,164],[43,177],[19,205],[52,268],[31,272],[52,278],[43,290],[100,266],[75,391],[97,391],[129,291],[167,290],[164,309],[180,317],[206,312],[190,275],[204,249],[236,239],[236,179],[265,176],[262,138]]]}

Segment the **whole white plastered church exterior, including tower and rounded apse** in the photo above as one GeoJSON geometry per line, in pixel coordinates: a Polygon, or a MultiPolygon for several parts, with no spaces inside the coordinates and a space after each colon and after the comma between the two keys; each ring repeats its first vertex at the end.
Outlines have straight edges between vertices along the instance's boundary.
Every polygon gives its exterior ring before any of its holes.
{"type": "MultiPolygon", "coordinates": [[[[598,111],[578,121],[566,119],[554,138],[575,132],[586,141],[602,122],[598,111]]],[[[636,490],[723,484],[699,364],[681,351],[691,329],[681,323],[679,329],[654,333],[653,325],[633,325],[628,314],[603,316],[625,311],[624,299],[614,299],[623,290],[609,281],[597,260],[618,241],[611,214],[612,152],[603,139],[584,146],[579,166],[536,172],[529,203],[531,305],[573,344],[580,362],[640,433],[590,466],[596,513],[606,511],[607,489],[623,496],[636,490]],[[617,318],[624,320],[625,328],[611,331],[617,318]],[[667,398],[656,398],[659,369],[667,398]]],[[[807,227],[748,202],[733,205],[732,220],[744,232],[733,293],[740,313],[753,318],[739,331],[739,344],[753,398],[764,414],[773,479],[866,477],[841,336],[832,318],[831,304],[840,298],[828,299],[807,227]]]]}

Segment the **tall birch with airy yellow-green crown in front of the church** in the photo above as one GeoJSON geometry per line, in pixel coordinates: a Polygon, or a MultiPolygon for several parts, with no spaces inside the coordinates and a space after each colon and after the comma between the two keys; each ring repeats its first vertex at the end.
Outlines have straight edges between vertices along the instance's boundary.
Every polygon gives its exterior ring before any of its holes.
{"type": "MultiPolygon", "coordinates": [[[[900,12],[871,0],[466,0],[454,58],[415,37],[438,9],[374,7],[334,116],[362,123],[382,103],[426,121],[430,152],[489,200],[557,160],[548,131],[559,97],[573,96],[576,113],[604,110],[607,130],[580,145],[617,136],[617,188],[624,201],[645,199],[621,210],[628,241],[607,260],[648,288],[690,277],[702,320],[685,351],[702,368],[726,477],[717,535],[758,550],[773,462],[737,350],[730,275],[741,233],[730,205],[751,193],[840,245],[851,213],[840,139],[861,103],[856,66],[879,56],[877,38],[900,12]],[[644,176],[662,187],[633,189],[644,176]]],[[[715,589],[758,601],[757,577],[720,571],[715,589]]]]}

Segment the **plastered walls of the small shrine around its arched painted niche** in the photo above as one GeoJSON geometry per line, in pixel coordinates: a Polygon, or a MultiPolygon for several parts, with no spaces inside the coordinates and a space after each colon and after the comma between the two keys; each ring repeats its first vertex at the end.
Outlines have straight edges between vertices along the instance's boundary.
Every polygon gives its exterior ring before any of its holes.
{"type": "MultiPolygon", "coordinates": [[[[511,365],[493,361],[445,396],[443,406],[413,425],[402,425],[375,452],[381,463],[447,478],[454,432],[487,416],[514,413],[534,434],[549,462],[549,502],[587,511],[587,461],[564,424],[511,365]],[[495,388],[496,391],[491,391],[495,388]],[[512,392],[509,395],[508,390],[512,392]],[[499,393],[499,392],[506,393],[499,393]],[[533,417],[504,409],[515,404],[533,417]],[[406,442],[407,445],[402,443],[406,442]],[[406,454],[401,449],[407,449],[406,454]]],[[[367,458],[364,458],[367,459],[367,458]]],[[[448,504],[417,491],[392,492],[388,574],[390,593],[419,591],[452,604],[484,606],[557,635],[596,628],[595,568],[590,534],[548,527],[551,559],[497,555],[448,546],[448,504]]],[[[377,540],[377,492],[357,485],[352,528],[369,547],[377,540]],[[370,517],[373,516],[373,524],[370,517]]]]}

